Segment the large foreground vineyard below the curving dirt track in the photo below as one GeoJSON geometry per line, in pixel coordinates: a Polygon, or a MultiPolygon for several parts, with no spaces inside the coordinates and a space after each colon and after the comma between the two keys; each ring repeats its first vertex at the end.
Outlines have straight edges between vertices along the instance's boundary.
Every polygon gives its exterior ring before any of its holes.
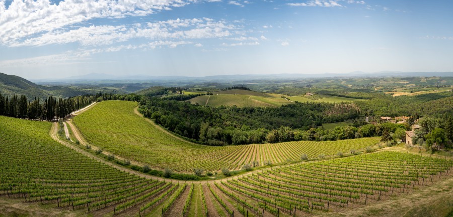
{"type": "MultiPolygon", "coordinates": [[[[453,160],[380,151],[220,181],[168,182],[131,175],[63,146],[50,138],[51,126],[0,116],[0,196],[95,216],[305,216],[401,195],[450,176],[453,168],[453,160]]],[[[288,145],[272,150],[293,149],[283,148],[288,145]]],[[[311,150],[309,156],[319,152],[311,150]]]]}

